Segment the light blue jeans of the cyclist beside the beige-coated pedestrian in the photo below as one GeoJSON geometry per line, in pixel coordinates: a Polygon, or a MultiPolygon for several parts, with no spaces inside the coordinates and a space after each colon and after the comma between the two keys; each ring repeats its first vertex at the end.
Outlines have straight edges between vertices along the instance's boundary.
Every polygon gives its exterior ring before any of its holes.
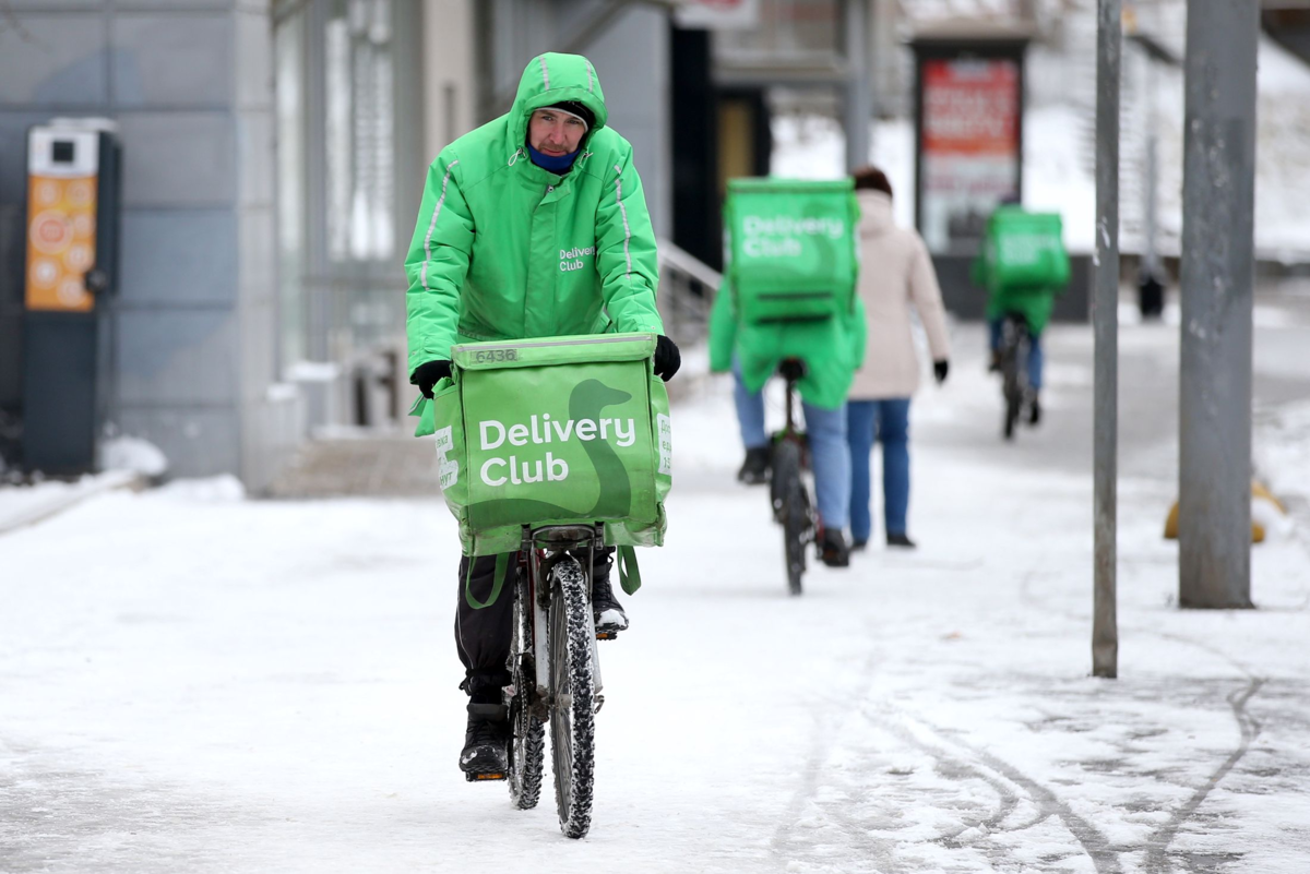
{"type": "MultiPolygon", "coordinates": [[[[741,368],[732,364],[738,427],[741,444],[747,449],[769,445],[764,432],[764,393],[749,393],[741,383],[741,368]]],[[[846,404],[836,410],[821,410],[800,402],[806,416],[806,434],[810,438],[810,463],[815,471],[815,500],[819,518],[827,529],[846,527],[850,506],[850,447],[846,445],[846,404]]]]}

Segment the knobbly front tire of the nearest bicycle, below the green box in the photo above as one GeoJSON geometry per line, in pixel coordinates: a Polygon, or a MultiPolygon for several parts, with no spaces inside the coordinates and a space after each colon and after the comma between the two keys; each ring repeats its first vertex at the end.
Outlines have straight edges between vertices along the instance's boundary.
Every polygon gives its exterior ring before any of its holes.
{"type": "Polygon", "coordinates": [[[583,837],[591,828],[596,764],[595,676],[591,646],[596,635],[587,599],[588,576],[576,559],[550,572],[550,752],[559,828],[583,837]]]}

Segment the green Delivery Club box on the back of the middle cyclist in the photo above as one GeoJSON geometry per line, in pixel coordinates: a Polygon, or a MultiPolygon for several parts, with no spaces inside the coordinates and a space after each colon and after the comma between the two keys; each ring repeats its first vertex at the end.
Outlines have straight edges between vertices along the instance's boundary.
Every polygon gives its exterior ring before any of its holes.
{"type": "Polygon", "coordinates": [[[859,208],[850,179],[731,179],[728,281],[744,322],[821,319],[853,306],[859,208]]]}

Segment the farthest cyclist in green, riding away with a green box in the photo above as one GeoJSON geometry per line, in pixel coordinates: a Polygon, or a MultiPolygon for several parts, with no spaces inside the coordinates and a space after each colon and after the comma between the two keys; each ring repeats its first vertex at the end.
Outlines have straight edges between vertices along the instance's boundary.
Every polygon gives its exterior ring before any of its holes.
{"type": "Polygon", "coordinates": [[[1069,256],[1058,237],[1058,217],[1052,213],[1030,213],[1023,209],[1014,195],[1005,198],[996,212],[988,218],[988,241],[984,242],[977,258],[973,259],[969,277],[975,285],[988,292],[986,321],[992,349],[989,370],[1001,366],[1001,335],[1005,317],[1015,314],[1023,318],[1028,330],[1028,423],[1035,425],[1041,420],[1041,332],[1051,321],[1056,297],[1064,293],[1069,284],[1069,256]],[[1055,238],[1049,234],[1036,237],[1047,241],[1036,247],[1031,245],[1035,237],[1024,237],[1017,232],[1011,238],[1020,245],[1005,245],[1005,228],[1023,226],[1036,218],[1055,220],[1055,238]],[[1000,245],[997,241],[1000,239],[1000,245]],[[1027,242],[1026,242],[1027,241],[1027,242]],[[1041,246],[1045,245],[1047,249],[1041,246]],[[1034,253],[1041,256],[1032,259],[1034,253]],[[1031,263],[1030,263],[1031,262],[1031,263]]]}

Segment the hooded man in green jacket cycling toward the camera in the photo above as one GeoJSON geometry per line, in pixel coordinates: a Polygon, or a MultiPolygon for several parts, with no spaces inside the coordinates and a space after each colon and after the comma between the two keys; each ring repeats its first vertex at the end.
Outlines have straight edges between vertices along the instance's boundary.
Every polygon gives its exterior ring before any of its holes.
{"type": "MultiPolygon", "coordinates": [[[[528,63],[506,115],[432,162],[405,258],[410,382],[424,396],[451,376],[451,347],[479,340],[643,331],[659,335],[655,373],[677,372],[655,307],[642,182],[631,145],[607,119],[591,61],[545,54],[528,63]]],[[[609,585],[612,555],[593,561],[597,632],[627,628],[609,585]]],[[[469,695],[460,769],[470,775],[507,768],[502,688],[515,587],[495,578],[496,557],[462,557],[457,580],[455,642],[469,695]]],[[[499,564],[506,577],[517,573],[516,556],[499,564]]]]}

